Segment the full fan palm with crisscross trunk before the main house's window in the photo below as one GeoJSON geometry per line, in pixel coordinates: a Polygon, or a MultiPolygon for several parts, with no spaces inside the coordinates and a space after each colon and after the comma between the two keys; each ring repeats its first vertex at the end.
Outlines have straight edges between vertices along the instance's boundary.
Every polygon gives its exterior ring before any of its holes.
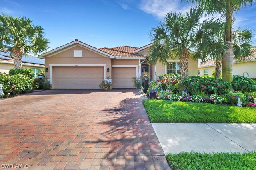
{"type": "Polygon", "coordinates": [[[188,59],[207,56],[209,53],[224,54],[225,49],[215,42],[216,33],[221,29],[220,20],[207,19],[200,22],[203,12],[200,8],[190,8],[189,13],[169,12],[164,23],[150,31],[153,44],[147,62],[167,63],[167,59],[180,60],[181,78],[188,76],[188,59]],[[213,50],[214,49],[214,50],[213,50]]]}

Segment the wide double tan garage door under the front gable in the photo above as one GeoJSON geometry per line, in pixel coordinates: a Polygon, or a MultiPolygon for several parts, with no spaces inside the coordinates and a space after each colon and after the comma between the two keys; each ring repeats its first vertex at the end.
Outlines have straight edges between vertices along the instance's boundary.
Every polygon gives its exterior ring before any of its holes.
{"type": "Polygon", "coordinates": [[[103,67],[53,67],[52,88],[98,89],[103,67]]]}

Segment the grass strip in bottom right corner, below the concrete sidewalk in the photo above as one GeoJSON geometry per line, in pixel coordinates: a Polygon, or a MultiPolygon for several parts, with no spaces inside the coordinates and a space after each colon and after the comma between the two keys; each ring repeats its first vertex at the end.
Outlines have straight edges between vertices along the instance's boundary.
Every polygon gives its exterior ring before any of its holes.
{"type": "Polygon", "coordinates": [[[256,170],[253,153],[189,153],[167,154],[173,170],[256,170]]]}

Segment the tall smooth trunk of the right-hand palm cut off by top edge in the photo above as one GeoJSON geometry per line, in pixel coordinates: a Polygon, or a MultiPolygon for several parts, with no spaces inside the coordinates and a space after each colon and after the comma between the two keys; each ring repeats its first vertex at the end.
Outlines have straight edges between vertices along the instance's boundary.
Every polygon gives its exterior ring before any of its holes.
{"type": "Polygon", "coordinates": [[[228,2],[228,12],[226,12],[226,26],[225,26],[225,42],[228,44],[226,55],[222,59],[222,80],[226,82],[233,81],[233,45],[232,45],[232,2],[228,2]]]}

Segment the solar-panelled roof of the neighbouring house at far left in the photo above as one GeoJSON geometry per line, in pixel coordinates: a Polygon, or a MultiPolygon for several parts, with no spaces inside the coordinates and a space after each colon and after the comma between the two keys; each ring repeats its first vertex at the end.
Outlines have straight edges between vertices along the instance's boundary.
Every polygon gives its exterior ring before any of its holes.
{"type": "MultiPolygon", "coordinates": [[[[10,57],[10,52],[0,51],[0,59],[1,61],[14,62],[12,57],[10,57]]],[[[26,63],[26,64],[36,64],[36,65],[44,66],[44,59],[39,59],[37,57],[30,56],[30,55],[22,55],[21,61],[22,63],[26,63]]]]}

